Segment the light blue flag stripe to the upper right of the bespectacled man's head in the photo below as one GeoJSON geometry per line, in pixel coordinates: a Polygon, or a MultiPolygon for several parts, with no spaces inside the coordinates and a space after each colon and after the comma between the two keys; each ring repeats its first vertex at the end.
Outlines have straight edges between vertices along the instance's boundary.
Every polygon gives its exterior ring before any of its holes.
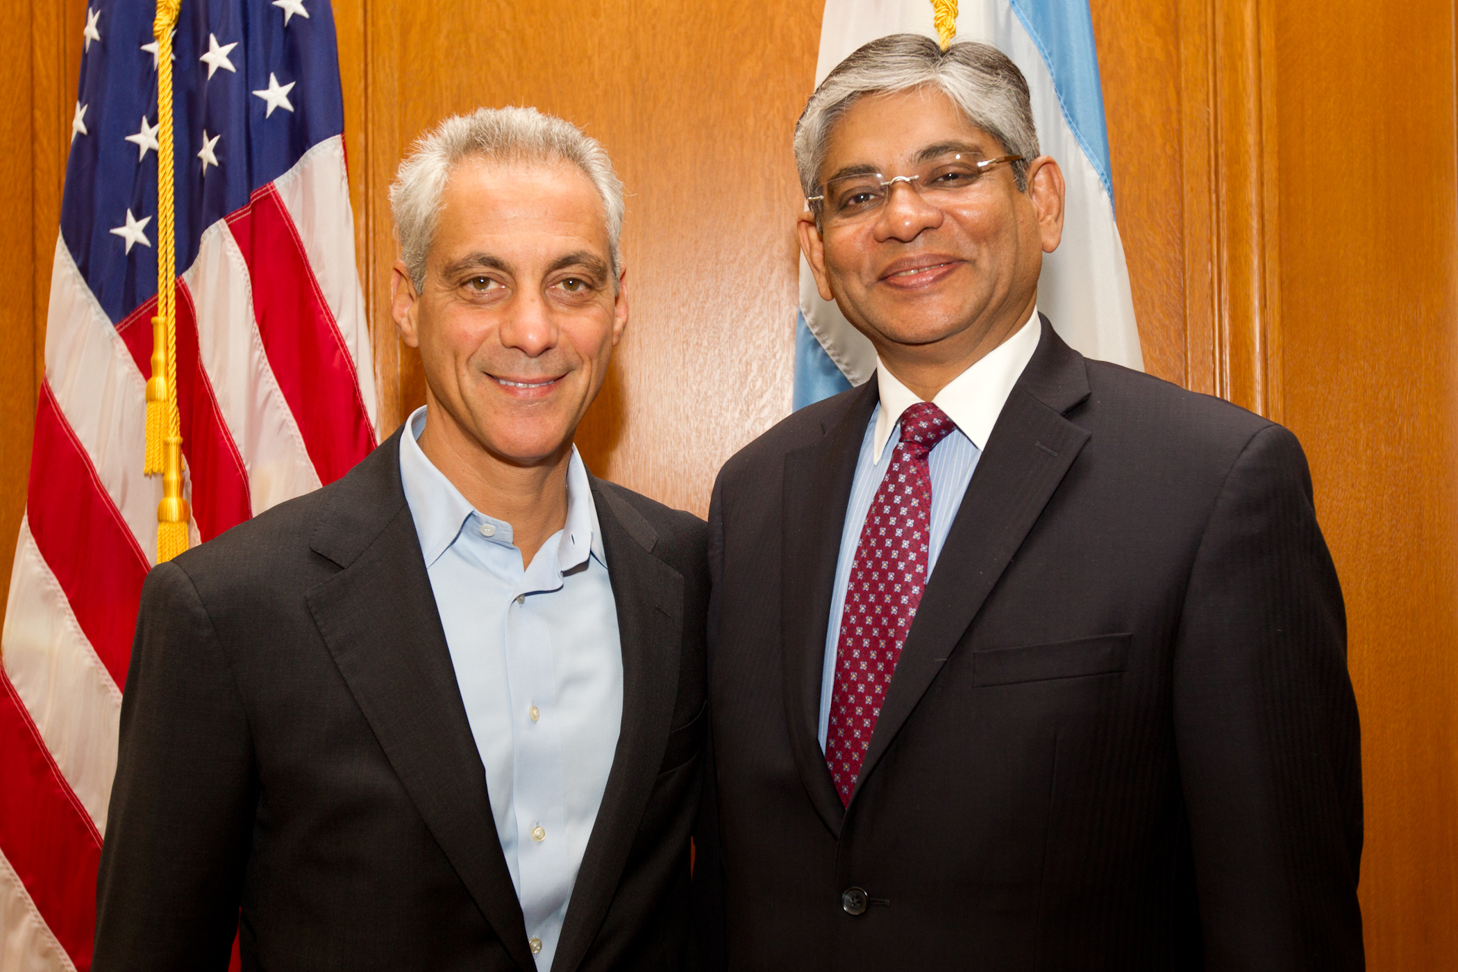
{"type": "Polygon", "coordinates": [[[1059,92],[1063,117],[1083,154],[1098,171],[1110,203],[1114,181],[1110,176],[1108,128],[1104,124],[1104,89],[1098,76],[1098,51],[1094,47],[1094,17],[1088,0],[1009,0],[1028,36],[1038,47],[1053,87],[1059,92]]]}

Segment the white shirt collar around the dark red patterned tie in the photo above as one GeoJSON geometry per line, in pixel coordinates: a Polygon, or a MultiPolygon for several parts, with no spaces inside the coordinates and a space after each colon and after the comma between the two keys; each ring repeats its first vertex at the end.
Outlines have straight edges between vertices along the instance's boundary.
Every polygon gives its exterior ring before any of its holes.
{"type": "MultiPolygon", "coordinates": [[[[946,412],[978,450],[987,447],[987,437],[997,424],[1002,407],[1007,404],[1012,386],[1018,383],[1022,369],[1028,367],[1032,353],[1038,350],[1041,326],[1038,307],[1034,306],[1032,316],[1016,334],[970,364],[932,399],[932,404],[946,412]]],[[[876,415],[870,455],[875,463],[881,465],[886,442],[901,420],[901,412],[921,399],[891,373],[881,356],[876,356],[876,385],[881,392],[881,412],[876,415]]]]}

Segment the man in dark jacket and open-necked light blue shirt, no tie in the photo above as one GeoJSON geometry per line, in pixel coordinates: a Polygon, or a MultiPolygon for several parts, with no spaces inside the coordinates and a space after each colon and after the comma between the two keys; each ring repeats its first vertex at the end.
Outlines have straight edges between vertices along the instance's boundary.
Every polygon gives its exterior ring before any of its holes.
{"type": "Polygon", "coordinates": [[[678,969],[706,528],[573,447],[627,322],[621,184],[532,109],[399,172],[426,407],[147,579],[98,971],[678,969]]]}

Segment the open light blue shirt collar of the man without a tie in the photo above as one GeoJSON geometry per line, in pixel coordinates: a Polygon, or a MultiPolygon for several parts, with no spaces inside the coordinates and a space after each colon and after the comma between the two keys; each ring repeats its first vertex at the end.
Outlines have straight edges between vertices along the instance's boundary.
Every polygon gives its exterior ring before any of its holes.
{"type": "MultiPolygon", "coordinates": [[[[420,536],[420,552],[426,567],[434,564],[455,542],[467,522],[475,516],[483,525],[490,523],[496,532],[491,539],[512,545],[512,525],[480,513],[471,506],[461,490],[436,468],[420,443],[416,442],[426,430],[426,407],[421,405],[405,420],[405,434],[399,437],[399,481],[405,490],[405,503],[416,520],[420,536]]],[[[557,571],[564,573],[585,563],[589,555],[607,565],[602,552],[602,530],[598,526],[598,509],[592,501],[592,487],[588,468],[572,447],[567,462],[567,522],[557,544],[557,571]]],[[[525,565],[525,564],[523,564],[525,565]]]]}

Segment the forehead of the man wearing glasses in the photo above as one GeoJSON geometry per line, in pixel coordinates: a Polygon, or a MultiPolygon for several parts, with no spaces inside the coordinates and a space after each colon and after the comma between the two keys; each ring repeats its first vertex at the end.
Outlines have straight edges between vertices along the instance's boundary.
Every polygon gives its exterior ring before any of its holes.
{"type": "Polygon", "coordinates": [[[847,168],[908,165],[921,150],[945,143],[1002,154],[997,138],[970,122],[956,102],[935,87],[865,95],[831,127],[821,176],[847,168]]]}

